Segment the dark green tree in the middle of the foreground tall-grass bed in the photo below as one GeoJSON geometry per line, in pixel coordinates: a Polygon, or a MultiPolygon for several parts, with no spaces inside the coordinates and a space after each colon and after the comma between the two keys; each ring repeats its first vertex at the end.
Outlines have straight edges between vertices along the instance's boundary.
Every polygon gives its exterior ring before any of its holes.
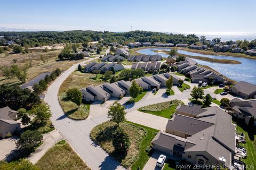
{"type": "Polygon", "coordinates": [[[113,133],[112,144],[117,152],[122,152],[126,155],[131,141],[129,135],[122,128],[118,127],[113,133]]]}

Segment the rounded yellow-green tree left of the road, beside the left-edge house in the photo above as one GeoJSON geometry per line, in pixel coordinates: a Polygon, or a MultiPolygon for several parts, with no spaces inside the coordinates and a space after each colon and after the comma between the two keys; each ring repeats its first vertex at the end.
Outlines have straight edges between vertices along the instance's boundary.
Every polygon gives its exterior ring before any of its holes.
{"type": "Polygon", "coordinates": [[[38,123],[45,123],[52,116],[50,106],[44,103],[44,101],[32,106],[30,113],[35,117],[35,121],[38,123]]]}

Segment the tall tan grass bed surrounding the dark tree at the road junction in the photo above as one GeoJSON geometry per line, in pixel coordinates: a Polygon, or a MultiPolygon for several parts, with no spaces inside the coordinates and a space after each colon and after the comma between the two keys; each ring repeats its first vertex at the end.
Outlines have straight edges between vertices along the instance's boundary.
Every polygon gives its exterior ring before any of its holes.
{"type": "Polygon", "coordinates": [[[116,125],[115,122],[99,124],[92,129],[90,136],[92,140],[96,141],[101,148],[117,159],[124,167],[129,168],[139,158],[140,144],[146,137],[147,131],[130,123],[119,124],[119,126],[129,135],[131,141],[131,146],[125,156],[116,153],[112,144],[113,132],[116,129],[116,125]]]}

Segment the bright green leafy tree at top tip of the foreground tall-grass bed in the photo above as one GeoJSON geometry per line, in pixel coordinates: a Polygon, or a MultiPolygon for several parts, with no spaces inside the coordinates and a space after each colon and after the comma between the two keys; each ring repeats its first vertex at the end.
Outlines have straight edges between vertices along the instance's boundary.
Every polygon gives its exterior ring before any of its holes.
{"type": "Polygon", "coordinates": [[[124,106],[122,106],[118,101],[115,101],[115,103],[108,109],[108,118],[110,118],[110,121],[116,122],[117,126],[126,120],[125,115],[126,112],[124,106]]]}

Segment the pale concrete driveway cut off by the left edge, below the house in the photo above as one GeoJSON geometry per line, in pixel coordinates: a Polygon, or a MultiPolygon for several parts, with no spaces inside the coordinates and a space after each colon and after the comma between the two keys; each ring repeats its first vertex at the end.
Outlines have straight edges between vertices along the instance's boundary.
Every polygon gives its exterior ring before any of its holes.
{"type": "Polygon", "coordinates": [[[15,142],[19,139],[13,135],[10,138],[0,140],[0,160],[10,161],[15,153],[12,152],[16,148],[15,142]]]}

